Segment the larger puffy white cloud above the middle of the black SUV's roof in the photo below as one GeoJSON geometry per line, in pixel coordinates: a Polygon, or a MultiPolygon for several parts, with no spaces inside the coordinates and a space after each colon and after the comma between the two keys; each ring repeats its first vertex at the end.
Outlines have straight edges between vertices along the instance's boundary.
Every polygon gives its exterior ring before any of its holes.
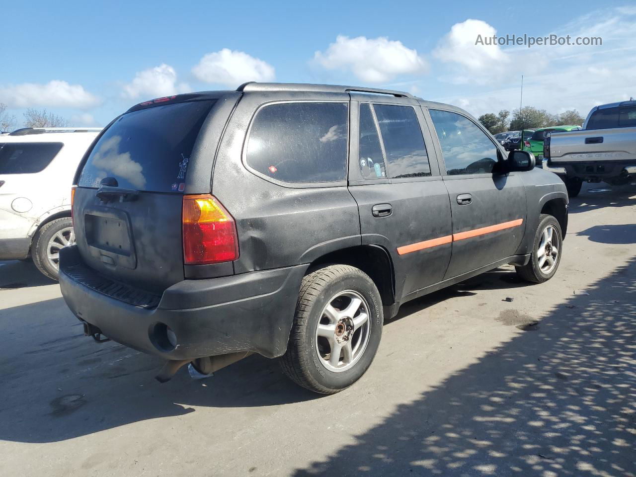
{"type": "Polygon", "coordinates": [[[324,52],[314,53],[314,62],[325,69],[349,69],[367,83],[386,83],[399,74],[424,74],[428,70],[417,50],[382,36],[338,35],[324,52]]]}

